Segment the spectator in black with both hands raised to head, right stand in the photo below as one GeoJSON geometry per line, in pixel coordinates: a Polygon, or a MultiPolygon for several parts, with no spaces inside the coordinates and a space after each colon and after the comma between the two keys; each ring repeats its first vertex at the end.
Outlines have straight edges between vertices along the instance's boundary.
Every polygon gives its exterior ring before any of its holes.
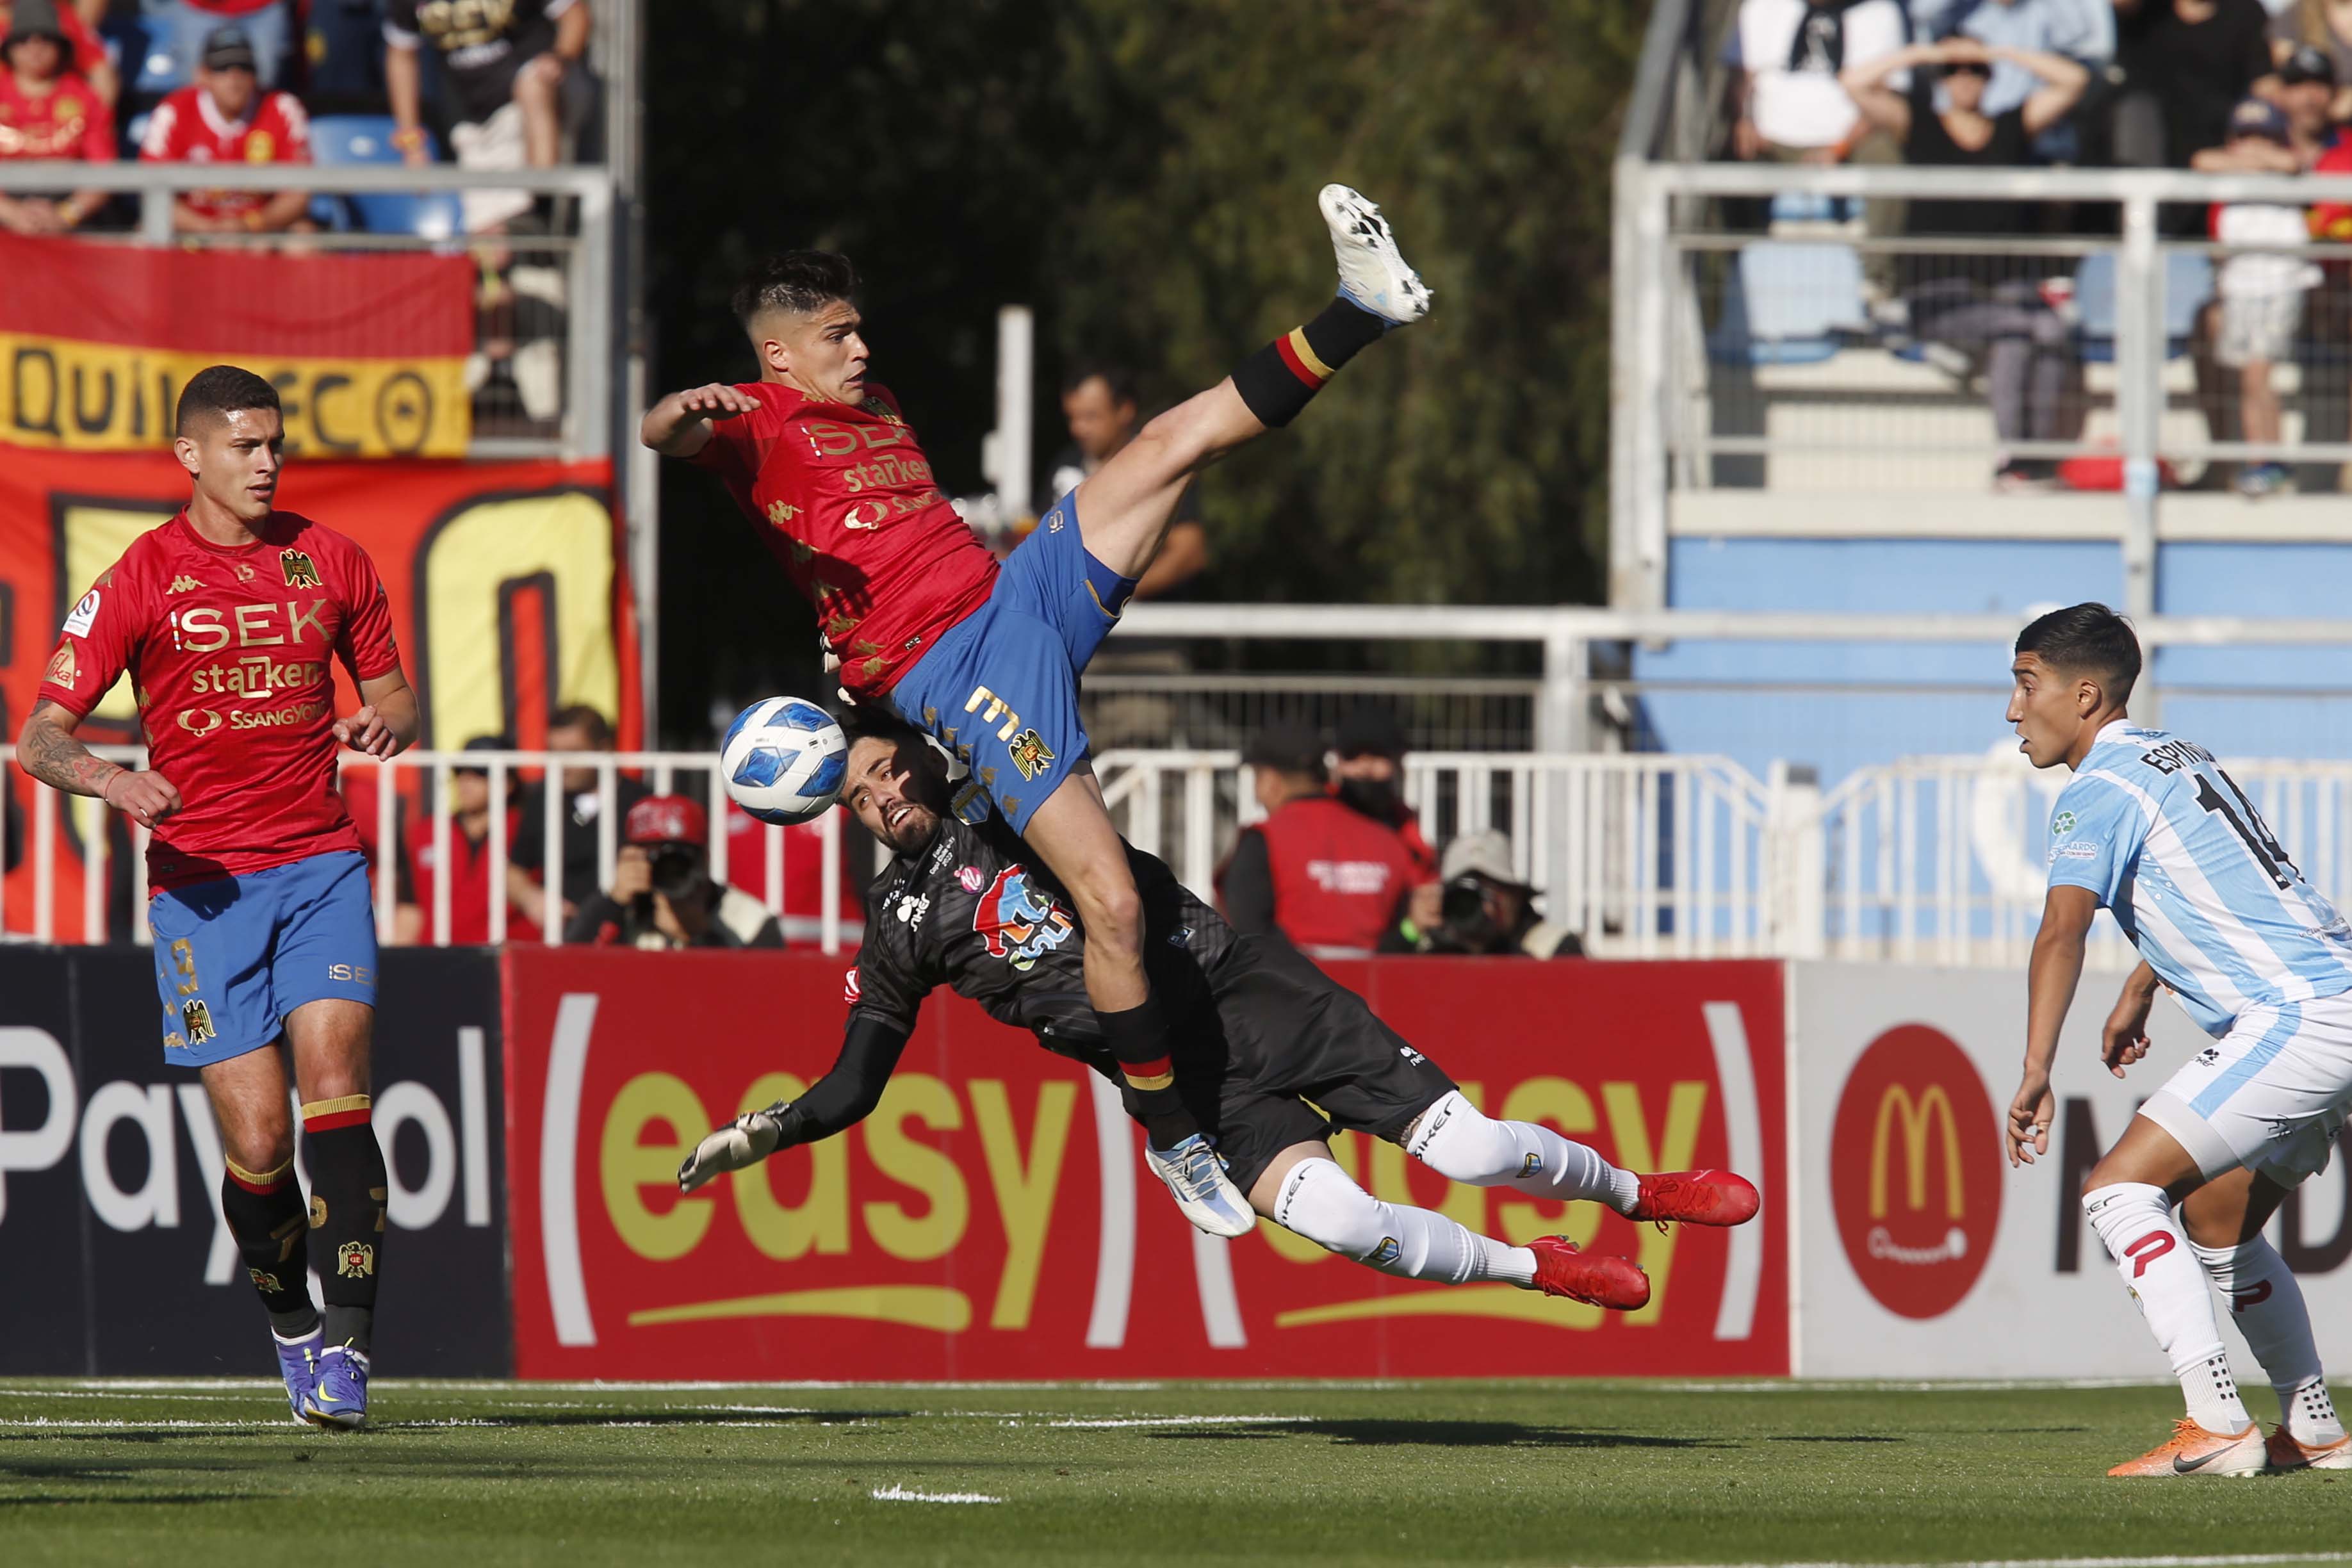
{"type": "MultiPolygon", "coordinates": [[[[1844,75],[1863,115],[1900,139],[1905,162],[1919,167],[2023,165],[2034,136],[2074,108],[2089,80],[2089,71],[2060,54],[1987,49],[1973,38],[1915,45],[1844,75]],[[2025,103],[1999,115],[1983,108],[1997,63],[2042,82],[2025,103]],[[1912,71],[1907,94],[1884,85],[1896,71],[1912,71]]],[[[2016,235],[2027,226],[2025,205],[2009,200],[1915,200],[1905,214],[1912,235],[2016,235]]],[[[1905,254],[1898,266],[1912,336],[1957,350],[1969,371],[1983,369],[1992,428],[2004,447],[2067,435],[2072,334],[2042,299],[2042,266],[1952,254],[1905,254]]],[[[2004,451],[1992,482],[2030,489],[2053,477],[2049,458],[2004,451]]]]}

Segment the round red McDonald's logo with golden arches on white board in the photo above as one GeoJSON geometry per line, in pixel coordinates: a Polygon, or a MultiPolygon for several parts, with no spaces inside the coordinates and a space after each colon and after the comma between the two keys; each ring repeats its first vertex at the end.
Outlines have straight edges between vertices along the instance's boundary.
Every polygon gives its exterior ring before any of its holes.
{"type": "Polygon", "coordinates": [[[1907,1023],[1846,1074],[1830,1201],[1846,1262],[1898,1316],[1943,1316],[1976,1286],[2002,1222],[1999,1121],[1950,1034],[1907,1023]]]}

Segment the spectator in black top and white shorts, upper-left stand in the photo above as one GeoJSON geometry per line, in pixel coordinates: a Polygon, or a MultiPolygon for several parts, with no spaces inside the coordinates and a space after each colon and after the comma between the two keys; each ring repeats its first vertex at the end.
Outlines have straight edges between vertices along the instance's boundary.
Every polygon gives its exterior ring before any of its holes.
{"type": "MultiPolygon", "coordinates": [[[[416,167],[426,153],[416,52],[442,56],[454,127],[449,146],[466,169],[553,169],[562,158],[562,94],[588,52],[586,0],[510,0],[496,7],[390,0],[383,14],[383,85],[393,99],[393,143],[416,167]]],[[[532,209],[520,190],[468,190],[466,230],[489,233],[532,209]]]]}

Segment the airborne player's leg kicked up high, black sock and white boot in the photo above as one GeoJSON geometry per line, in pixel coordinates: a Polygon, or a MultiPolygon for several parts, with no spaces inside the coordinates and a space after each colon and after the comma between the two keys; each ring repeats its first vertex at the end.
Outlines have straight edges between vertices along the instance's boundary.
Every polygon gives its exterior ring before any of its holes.
{"type": "Polygon", "coordinates": [[[1338,256],[1338,299],[1225,381],[1152,418],[1075,491],[1087,552],[1129,585],[1160,552],[1195,473],[1291,423],[1348,360],[1428,315],[1430,292],[1404,263],[1381,209],[1348,186],[1324,186],[1317,205],[1338,256]]]}

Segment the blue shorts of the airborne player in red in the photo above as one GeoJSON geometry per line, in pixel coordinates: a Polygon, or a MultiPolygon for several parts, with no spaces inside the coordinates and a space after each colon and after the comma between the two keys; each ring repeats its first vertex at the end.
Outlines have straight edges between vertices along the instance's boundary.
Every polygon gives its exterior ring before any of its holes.
{"type": "Polygon", "coordinates": [[[1070,491],[1004,562],[988,602],[891,689],[898,717],[955,750],[1014,832],[1087,759],[1077,675],[1134,590],[1087,555],[1070,491]]]}

